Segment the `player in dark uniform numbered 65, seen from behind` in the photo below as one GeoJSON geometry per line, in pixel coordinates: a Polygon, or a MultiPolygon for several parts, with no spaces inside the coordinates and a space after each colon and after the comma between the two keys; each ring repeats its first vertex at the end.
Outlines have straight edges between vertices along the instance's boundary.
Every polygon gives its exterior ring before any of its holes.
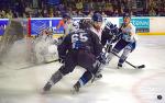
{"type": "Polygon", "coordinates": [[[64,38],[64,42],[59,45],[59,58],[64,60],[64,65],[52,76],[48,82],[43,88],[44,91],[48,91],[53,84],[58,82],[64,76],[72,72],[76,66],[80,66],[86,69],[80,80],[74,85],[76,92],[79,88],[86,84],[97,72],[98,61],[105,62],[101,53],[102,45],[99,37],[88,28],[88,22],[80,20],[79,30],[70,33],[64,38]]]}

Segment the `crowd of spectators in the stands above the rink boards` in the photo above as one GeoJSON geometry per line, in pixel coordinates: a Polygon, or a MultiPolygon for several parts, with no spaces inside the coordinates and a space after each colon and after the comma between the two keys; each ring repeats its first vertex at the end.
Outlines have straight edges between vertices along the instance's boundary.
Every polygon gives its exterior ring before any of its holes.
{"type": "Polygon", "coordinates": [[[143,8],[136,8],[136,0],[0,0],[0,19],[3,18],[61,18],[69,13],[73,18],[88,18],[94,12],[103,16],[122,16],[129,12],[134,16],[164,16],[165,0],[145,1],[143,8]],[[34,2],[36,1],[36,2],[34,2]]]}

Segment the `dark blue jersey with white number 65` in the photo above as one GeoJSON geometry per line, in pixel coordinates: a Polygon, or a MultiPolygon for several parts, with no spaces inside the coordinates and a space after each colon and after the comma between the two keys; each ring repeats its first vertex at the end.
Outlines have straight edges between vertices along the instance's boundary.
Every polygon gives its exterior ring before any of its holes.
{"type": "Polygon", "coordinates": [[[99,56],[102,52],[102,45],[97,34],[90,30],[78,30],[66,35],[63,43],[58,46],[58,55],[61,58],[61,56],[66,56],[67,52],[80,49],[99,56]]]}

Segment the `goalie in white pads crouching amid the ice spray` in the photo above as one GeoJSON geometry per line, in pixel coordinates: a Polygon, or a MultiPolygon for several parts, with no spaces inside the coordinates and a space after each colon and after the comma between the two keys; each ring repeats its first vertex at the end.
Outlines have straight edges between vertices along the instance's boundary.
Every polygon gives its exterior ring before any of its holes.
{"type": "Polygon", "coordinates": [[[33,42],[34,62],[47,62],[48,59],[57,58],[55,56],[57,54],[57,44],[58,41],[53,38],[53,30],[51,27],[44,28],[33,42]]]}

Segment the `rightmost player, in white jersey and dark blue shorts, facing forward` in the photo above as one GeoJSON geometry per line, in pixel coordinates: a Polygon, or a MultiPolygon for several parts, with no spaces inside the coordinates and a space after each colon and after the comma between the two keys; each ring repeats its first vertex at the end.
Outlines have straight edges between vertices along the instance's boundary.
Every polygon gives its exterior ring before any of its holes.
{"type": "Polygon", "coordinates": [[[123,62],[136,46],[135,26],[131,23],[130,14],[128,13],[124,14],[123,23],[121,24],[120,31],[121,31],[121,38],[118,41],[118,43],[112,48],[111,53],[108,55],[108,62],[109,62],[114,56],[114,54],[119,54],[123,49],[123,53],[118,62],[119,69],[122,68],[123,62]]]}

